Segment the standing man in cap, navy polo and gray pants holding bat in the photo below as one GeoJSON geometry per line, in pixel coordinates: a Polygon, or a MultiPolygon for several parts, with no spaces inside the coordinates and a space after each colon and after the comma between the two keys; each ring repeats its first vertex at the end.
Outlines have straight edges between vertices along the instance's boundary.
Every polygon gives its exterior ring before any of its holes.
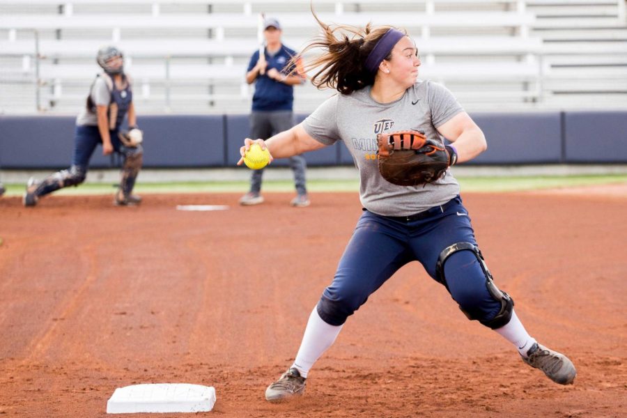
{"type": "MultiPolygon", "coordinates": [[[[273,134],[288,130],[294,123],[294,88],[305,82],[304,74],[297,72],[291,62],[296,52],[281,42],[281,24],[273,17],[263,22],[265,48],[263,55],[257,50],[252,54],[246,73],[246,82],[255,83],[250,116],[251,139],[268,139],[273,134]]],[[[297,208],[309,206],[305,171],[307,162],[302,155],[290,157],[290,167],[294,172],[296,197],[291,205],[297,208]]],[[[261,180],[263,169],[252,171],[250,191],[242,196],[240,204],[245,206],[263,203],[261,180]]]]}

